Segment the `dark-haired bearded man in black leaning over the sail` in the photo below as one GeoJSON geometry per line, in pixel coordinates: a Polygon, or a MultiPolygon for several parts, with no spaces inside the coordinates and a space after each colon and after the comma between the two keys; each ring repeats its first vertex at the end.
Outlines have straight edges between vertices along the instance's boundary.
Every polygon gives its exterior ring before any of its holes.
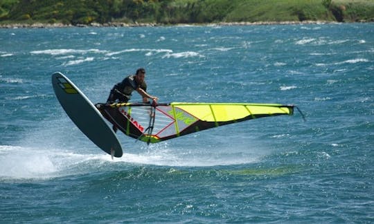
{"type": "Polygon", "coordinates": [[[110,91],[107,103],[116,102],[128,102],[132,96],[132,92],[138,92],[143,97],[143,102],[148,102],[148,99],[157,102],[158,97],[148,94],[147,84],[145,84],[145,69],[139,68],[136,70],[135,75],[129,75],[125,77],[122,82],[115,84],[110,91]]]}

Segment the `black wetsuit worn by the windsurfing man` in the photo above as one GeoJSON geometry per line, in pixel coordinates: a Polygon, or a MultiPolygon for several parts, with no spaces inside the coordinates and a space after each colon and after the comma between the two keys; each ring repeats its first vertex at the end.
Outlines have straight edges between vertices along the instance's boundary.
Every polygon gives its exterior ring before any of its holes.
{"type": "Polygon", "coordinates": [[[122,82],[115,84],[110,91],[107,102],[115,102],[116,100],[119,102],[127,102],[130,100],[132,92],[139,87],[142,88],[143,91],[147,91],[147,84],[145,84],[145,82],[139,84],[136,82],[135,76],[136,75],[129,75],[125,77],[122,82]]]}

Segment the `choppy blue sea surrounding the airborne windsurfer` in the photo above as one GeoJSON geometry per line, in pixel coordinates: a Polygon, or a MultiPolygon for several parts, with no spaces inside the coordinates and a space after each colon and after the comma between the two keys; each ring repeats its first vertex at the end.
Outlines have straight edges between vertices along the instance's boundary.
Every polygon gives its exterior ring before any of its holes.
{"type": "MultiPolygon", "coordinates": [[[[374,24],[0,29],[0,222],[373,223],[374,24]],[[160,102],[298,105],[122,158],[64,113],[147,70],[160,102]]],[[[133,102],[140,97],[134,95],[133,102]]]]}

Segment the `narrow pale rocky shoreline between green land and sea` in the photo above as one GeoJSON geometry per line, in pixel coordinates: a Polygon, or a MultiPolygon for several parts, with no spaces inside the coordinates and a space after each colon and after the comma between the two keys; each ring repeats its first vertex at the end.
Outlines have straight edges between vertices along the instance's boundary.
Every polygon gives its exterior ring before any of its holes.
{"type": "Polygon", "coordinates": [[[258,21],[258,22],[217,22],[217,23],[207,23],[207,24],[127,24],[122,22],[110,22],[105,24],[0,24],[0,28],[75,28],[75,27],[157,27],[157,26],[264,26],[264,25],[303,25],[303,24],[353,24],[353,23],[371,23],[371,21],[356,21],[356,22],[337,22],[337,21],[258,21]]]}

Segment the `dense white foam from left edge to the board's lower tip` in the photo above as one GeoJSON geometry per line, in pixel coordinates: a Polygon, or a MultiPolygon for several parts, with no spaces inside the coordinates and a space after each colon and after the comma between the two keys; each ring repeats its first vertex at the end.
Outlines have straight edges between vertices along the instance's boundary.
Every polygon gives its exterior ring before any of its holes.
{"type": "Polygon", "coordinates": [[[89,173],[111,161],[106,154],[84,155],[59,149],[0,146],[0,179],[45,179],[89,173]],[[87,162],[89,165],[87,165],[87,162]]]}

